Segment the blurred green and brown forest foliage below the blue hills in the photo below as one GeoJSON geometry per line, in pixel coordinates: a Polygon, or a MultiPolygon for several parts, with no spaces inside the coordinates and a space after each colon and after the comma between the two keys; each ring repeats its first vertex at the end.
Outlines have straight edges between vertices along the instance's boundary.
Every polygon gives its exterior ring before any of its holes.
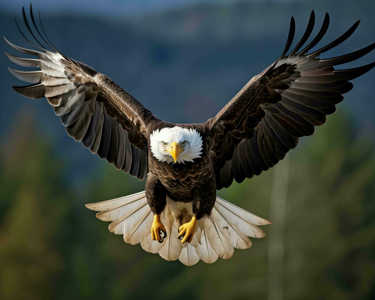
{"type": "MultiPolygon", "coordinates": [[[[374,141],[336,113],[290,156],[285,299],[371,299],[375,286],[374,141]]],[[[267,238],[228,261],[185,267],[123,242],[84,204],[144,189],[101,163],[89,184],[25,120],[1,152],[1,299],[265,299],[267,238]]],[[[89,153],[87,155],[90,155],[89,153]]],[[[277,166],[276,166],[277,167],[277,166]]],[[[219,195],[269,215],[272,170],[219,195]]],[[[264,227],[268,232],[270,226],[264,227]]],[[[272,270],[272,266],[271,266],[272,270]]]]}

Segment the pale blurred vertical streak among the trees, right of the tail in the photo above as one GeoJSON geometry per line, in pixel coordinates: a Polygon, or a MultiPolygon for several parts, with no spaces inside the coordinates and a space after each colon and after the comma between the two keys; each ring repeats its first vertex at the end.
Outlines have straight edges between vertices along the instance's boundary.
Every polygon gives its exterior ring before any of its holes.
{"type": "Polygon", "coordinates": [[[268,300],[284,299],[284,223],[289,183],[289,154],[273,169],[268,242],[268,300]]]}

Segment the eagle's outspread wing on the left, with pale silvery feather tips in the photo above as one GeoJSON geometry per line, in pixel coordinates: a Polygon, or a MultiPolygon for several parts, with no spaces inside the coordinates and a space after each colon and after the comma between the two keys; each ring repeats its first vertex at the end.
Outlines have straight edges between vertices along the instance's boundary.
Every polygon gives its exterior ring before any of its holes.
{"type": "Polygon", "coordinates": [[[47,41],[40,34],[30,5],[34,33],[36,31],[51,48],[46,49],[34,36],[24,8],[22,12],[28,31],[40,46],[31,42],[21,30],[36,50],[16,46],[4,38],[12,48],[33,55],[33,58],[24,58],[6,53],[13,63],[37,68],[33,71],[9,68],[15,77],[31,83],[13,89],[28,98],[46,97],[69,136],[101,159],[113,163],[117,169],[144,179],[148,172],[144,134],[148,122],[157,117],[107,76],[57,51],[48,37],[47,41]]]}

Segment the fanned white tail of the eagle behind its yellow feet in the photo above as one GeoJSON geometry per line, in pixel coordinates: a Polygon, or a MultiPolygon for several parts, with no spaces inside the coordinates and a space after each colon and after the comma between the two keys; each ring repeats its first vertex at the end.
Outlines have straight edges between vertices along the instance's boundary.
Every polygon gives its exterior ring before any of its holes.
{"type": "Polygon", "coordinates": [[[172,201],[167,197],[166,208],[161,214],[167,237],[163,243],[151,239],[150,228],[153,214],[148,206],[145,192],[86,204],[95,211],[98,219],[112,221],[108,229],[115,234],[123,234],[124,241],[131,245],[141,243],[142,248],[150,253],[159,253],[165,260],[180,260],[186,266],[198,263],[214,263],[218,257],[229,259],[234,249],[251,247],[248,237],[264,237],[266,234],[259,225],[272,222],[249,213],[248,211],[217,197],[210,217],[198,221],[198,226],[190,244],[181,244],[178,240],[177,220],[181,211],[186,211],[182,222],[192,217],[191,203],[172,201]]]}

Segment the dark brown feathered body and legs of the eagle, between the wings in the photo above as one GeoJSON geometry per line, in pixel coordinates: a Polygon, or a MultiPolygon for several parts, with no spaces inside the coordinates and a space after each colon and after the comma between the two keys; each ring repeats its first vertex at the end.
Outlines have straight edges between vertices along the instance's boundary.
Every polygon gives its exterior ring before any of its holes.
{"type": "MultiPolygon", "coordinates": [[[[193,202],[193,213],[200,219],[205,214],[209,215],[216,199],[215,172],[212,162],[212,153],[208,150],[210,141],[207,124],[174,124],[163,121],[152,121],[148,126],[148,132],[164,127],[180,126],[192,128],[199,132],[205,141],[203,155],[184,164],[160,163],[152,153],[148,152],[148,169],[150,174],[146,181],[146,195],[148,203],[154,213],[161,213],[165,206],[160,205],[160,194],[163,203],[168,195],[174,201],[193,202]],[[155,185],[159,181],[165,189],[157,189],[155,185]],[[151,192],[155,189],[155,192],[151,192]],[[164,193],[163,193],[164,191],[164,193]],[[155,193],[157,196],[154,196],[155,193]],[[156,197],[156,198],[155,198],[156,197]]],[[[150,146],[148,147],[150,149],[150,146]]]]}

